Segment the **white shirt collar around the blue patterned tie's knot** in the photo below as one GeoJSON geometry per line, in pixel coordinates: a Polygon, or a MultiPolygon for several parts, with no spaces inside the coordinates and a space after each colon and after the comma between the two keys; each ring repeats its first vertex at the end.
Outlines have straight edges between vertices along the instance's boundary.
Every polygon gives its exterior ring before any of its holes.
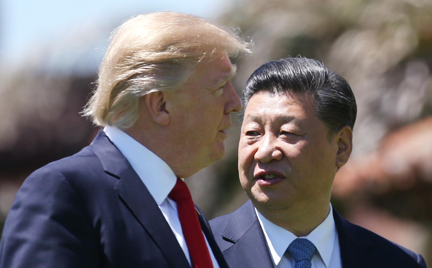
{"type": "MultiPolygon", "coordinates": [[[[331,254],[333,252],[334,240],[336,237],[336,225],[334,224],[332,210],[333,208],[330,204],[330,211],[327,218],[325,218],[318,227],[312,230],[311,233],[302,237],[314,243],[326,267],[329,267],[330,265],[331,254]]],[[[297,236],[268,221],[256,208],[255,212],[260,221],[264,236],[266,237],[267,245],[270,249],[270,255],[272,256],[275,265],[278,265],[289,244],[291,244],[297,236]]]]}

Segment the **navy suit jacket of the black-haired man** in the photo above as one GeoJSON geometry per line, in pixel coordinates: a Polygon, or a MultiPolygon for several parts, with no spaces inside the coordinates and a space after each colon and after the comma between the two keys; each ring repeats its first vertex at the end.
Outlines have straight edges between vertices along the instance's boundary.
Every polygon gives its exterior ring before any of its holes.
{"type": "MultiPolygon", "coordinates": [[[[343,219],[333,210],[343,268],[424,267],[421,255],[343,219]]],[[[238,210],[210,221],[216,242],[230,267],[273,267],[267,242],[249,200],[238,210]]]]}

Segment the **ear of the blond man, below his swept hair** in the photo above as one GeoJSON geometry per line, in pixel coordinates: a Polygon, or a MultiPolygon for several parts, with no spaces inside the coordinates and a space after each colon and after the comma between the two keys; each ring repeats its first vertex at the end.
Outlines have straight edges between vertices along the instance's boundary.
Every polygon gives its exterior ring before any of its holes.
{"type": "Polygon", "coordinates": [[[154,91],[143,96],[144,105],[150,118],[158,125],[166,126],[169,123],[169,104],[166,92],[154,91]]]}

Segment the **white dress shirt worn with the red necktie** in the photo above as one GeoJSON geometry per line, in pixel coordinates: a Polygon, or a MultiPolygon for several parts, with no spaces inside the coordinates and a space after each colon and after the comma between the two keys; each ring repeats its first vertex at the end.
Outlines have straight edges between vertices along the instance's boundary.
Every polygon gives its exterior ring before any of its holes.
{"type": "MultiPolygon", "coordinates": [[[[187,261],[191,264],[191,257],[189,256],[186,240],[184,240],[180,220],[178,219],[177,203],[168,197],[177,180],[174,171],[172,171],[165,161],[120,129],[113,126],[105,126],[104,132],[127,161],[129,161],[133,170],[135,170],[153,199],[155,199],[175,238],[177,238],[181,249],[183,249],[187,261]]],[[[219,268],[205,235],[204,238],[210,252],[213,267],[219,268]]]]}

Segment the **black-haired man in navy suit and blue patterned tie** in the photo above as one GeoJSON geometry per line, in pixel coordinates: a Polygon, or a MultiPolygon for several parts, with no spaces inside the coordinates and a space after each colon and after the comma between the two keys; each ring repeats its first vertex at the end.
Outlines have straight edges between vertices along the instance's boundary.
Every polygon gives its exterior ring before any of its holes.
{"type": "Polygon", "coordinates": [[[357,113],[343,77],[316,60],[272,61],[251,75],[242,104],[238,171],[250,201],[210,221],[231,267],[426,267],[330,204],[357,113]]]}

